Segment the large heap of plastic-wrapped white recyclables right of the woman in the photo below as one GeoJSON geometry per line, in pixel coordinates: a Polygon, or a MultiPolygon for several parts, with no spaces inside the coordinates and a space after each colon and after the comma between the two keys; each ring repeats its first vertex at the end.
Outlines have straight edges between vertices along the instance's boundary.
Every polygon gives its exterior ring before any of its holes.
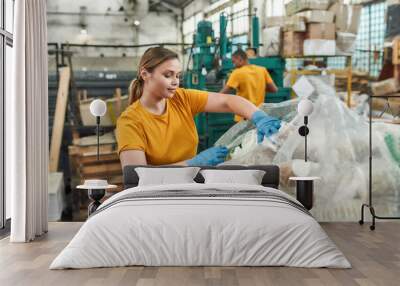
{"type": "MultiPolygon", "coordinates": [[[[304,137],[298,134],[303,118],[297,114],[299,99],[260,108],[283,121],[275,138],[257,144],[254,126],[241,122],[228,130],[217,145],[235,141],[236,148],[224,164],[276,164],[280,167],[280,189],[295,194],[290,176],[317,176],[312,213],[318,220],[329,220],[326,211],[336,210],[332,220],[359,219],[359,207],[368,195],[368,123],[335,95],[328,76],[307,76],[315,92],[309,96],[314,111],[309,116],[308,162],[304,163],[304,137]],[[237,136],[238,125],[240,136],[237,136]],[[253,131],[251,131],[253,130],[253,131]]],[[[373,125],[374,196],[390,198],[400,194],[400,150],[393,149],[400,129],[395,125],[373,125]],[[391,126],[394,126],[391,128],[391,126]],[[395,138],[396,140],[389,140],[395,138]],[[393,145],[393,146],[392,146],[393,145]]],[[[400,139],[399,139],[400,141],[400,139]]],[[[397,142],[397,141],[396,141],[397,142]]]]}

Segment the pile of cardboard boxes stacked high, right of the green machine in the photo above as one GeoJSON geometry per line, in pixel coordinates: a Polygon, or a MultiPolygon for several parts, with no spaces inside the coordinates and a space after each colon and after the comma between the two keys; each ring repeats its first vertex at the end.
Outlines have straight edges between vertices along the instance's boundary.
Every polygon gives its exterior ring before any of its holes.
{"type": "MultiPolygon", "coordinates": [[[[351,55],[356,39],[361,6],[346,5],[343,0],[291,0],[286,3],[286,17],[266,20],[264,35],[272,34],[274,43],[264,43],[265,55],[351,55]],[[283,37],[277,36],[277,27],[283,37]]],[[[264,37],[268,38],[268,37],[264,37]]]]}

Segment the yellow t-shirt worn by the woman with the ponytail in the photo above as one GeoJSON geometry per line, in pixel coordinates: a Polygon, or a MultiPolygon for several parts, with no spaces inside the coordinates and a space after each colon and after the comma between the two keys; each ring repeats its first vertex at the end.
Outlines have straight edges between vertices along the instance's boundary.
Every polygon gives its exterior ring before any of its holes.
{"type": "Polygon", "coordinates": [[[145,109],[139,100],[118,118],[116,136],[118,153],[142,150],[147,164],[172,164],[193,158],[199,137],[193,117],[204,111],[208,93],[178,88],[167,99],[166,110],[156,115],[145,109]]]}

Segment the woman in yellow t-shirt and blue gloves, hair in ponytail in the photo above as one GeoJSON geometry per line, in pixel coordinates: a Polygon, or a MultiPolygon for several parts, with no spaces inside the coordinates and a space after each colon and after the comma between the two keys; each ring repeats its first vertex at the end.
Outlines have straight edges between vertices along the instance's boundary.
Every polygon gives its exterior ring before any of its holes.
{"type": "Polygon", "coordinates": [[[193,117],[199,112],[232,112],[251,119],[258,141],[280,128],[268,116],[239,96],[179,88],[178,55],[162,47],[142,56],[138,76],[129,88],[129,107],[117,121],[118,153],[125,165],[217,165],[226,147],[197,153],[199,141],[193,117]]]}

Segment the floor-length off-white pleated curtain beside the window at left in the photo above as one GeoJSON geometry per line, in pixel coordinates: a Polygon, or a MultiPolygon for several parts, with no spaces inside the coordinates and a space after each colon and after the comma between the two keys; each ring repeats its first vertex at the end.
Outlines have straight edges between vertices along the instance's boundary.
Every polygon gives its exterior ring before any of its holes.
{"type": "Polygon", "coordinates": [[[13,92],[6,98],[6,188],[12,242],[47,232],[48,96],[46,0],[17,0],[13,92]]]}

